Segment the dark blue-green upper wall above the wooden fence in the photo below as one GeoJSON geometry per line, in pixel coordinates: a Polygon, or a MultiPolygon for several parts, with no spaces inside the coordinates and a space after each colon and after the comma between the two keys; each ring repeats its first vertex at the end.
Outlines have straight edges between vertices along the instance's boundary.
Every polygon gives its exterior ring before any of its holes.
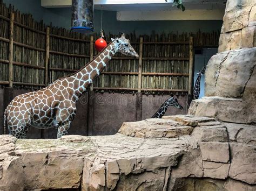
{"type": "MultiPolygon", "coordinates": [[[[44,20],[53,26],[71,26],[71,8],[43,8],[40,0],[3,0],[12,4],[23,13],[31,13],[36,20],[44,20]]],[[[100,31],[100,11],[95,10],[95,32],[100,31]]],[[[212,32],[221,29],[222,20],[161,20],[161,21],[117,21],[116,11],[103,11],[103,30],[105,33],[118,34],[119,32],[138,34],[174,32],[212,32]]]]}

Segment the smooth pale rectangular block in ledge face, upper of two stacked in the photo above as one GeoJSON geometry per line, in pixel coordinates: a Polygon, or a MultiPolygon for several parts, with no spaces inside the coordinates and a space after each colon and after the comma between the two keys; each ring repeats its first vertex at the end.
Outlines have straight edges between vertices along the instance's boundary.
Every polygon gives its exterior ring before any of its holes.
{"type": "Polygon", "coordinates": [[[204,161],[223,163],[230,161],[228,143],[200,142],[199,146],[204,161]]]}

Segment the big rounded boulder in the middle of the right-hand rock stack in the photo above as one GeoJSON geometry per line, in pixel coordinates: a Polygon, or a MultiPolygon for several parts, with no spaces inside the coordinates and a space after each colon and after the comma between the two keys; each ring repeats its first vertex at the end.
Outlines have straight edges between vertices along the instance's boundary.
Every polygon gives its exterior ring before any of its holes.
{"type": "Polygon", "coordinates": [[[205,71],[205,95],[241,97],[252,75],[255,62],[256,47],[213,55],[205,71]]]}

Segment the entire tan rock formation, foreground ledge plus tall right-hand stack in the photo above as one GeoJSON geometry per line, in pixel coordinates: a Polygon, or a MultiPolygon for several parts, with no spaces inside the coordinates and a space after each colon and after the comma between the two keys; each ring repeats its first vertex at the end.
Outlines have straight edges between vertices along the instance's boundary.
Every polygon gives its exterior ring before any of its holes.
{"type": "Polygon", "coordinates": [[[253,0],[227,2],[192,115],[112,136],[0,136],[0,190],[256,190],[255,11],[253,0]]]}

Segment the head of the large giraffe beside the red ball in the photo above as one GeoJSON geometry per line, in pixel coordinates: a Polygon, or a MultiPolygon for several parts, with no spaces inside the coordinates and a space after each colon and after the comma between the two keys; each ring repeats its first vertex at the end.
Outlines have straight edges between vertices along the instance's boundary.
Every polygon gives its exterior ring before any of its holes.
{"type": "Polygon", "coordinates": [[[111,38],[111,40],[114,42],[116,52],[139,58],[139,55],[137,54],[137,52],[134,51],[133,47],[131,46],[130,40],[125,38],[124,33],[120,38],[111,38]]]}

